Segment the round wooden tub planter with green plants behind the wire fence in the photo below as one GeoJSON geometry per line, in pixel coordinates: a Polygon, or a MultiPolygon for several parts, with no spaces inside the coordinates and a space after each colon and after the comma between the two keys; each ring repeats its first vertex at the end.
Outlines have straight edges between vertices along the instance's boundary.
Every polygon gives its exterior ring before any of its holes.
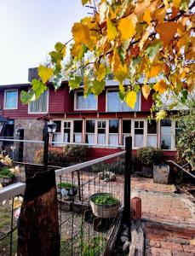
{"type": "Polygon", "coordinates": [[[99,218],[115,218],[120,201],[109,193],[96,193],[90,196],[92,212],[99,218]]]}

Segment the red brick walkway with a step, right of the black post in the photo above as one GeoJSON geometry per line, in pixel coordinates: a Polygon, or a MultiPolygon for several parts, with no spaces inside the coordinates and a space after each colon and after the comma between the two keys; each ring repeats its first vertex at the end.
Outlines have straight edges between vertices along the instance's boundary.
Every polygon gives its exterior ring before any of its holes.
{"type": "Polygon", "coordinates": [[[173,186],[132,178],[132,196],[142,200],[146,256],[195,256],[195,206],[173,186]]]}

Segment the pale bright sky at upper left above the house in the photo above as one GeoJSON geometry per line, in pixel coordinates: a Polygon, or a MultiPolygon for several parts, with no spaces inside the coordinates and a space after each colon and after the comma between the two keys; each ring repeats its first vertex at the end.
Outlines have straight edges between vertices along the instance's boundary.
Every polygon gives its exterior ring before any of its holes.
{"type": "Polygon", "coordinates": [[[0,85],[26,83],[28,68],[72,38],[88,12],[81,0],[0,0],[0,85]]]}

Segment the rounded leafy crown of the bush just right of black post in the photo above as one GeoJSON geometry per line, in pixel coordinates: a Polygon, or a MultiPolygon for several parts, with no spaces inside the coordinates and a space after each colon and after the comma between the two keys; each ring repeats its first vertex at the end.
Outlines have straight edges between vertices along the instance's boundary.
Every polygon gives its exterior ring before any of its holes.
{"type": "Polygon", "coordinates": [[[163,151],[160,148],[139,148],[137,158],[143,166],[152,166],[163,162],[163,151]]]}

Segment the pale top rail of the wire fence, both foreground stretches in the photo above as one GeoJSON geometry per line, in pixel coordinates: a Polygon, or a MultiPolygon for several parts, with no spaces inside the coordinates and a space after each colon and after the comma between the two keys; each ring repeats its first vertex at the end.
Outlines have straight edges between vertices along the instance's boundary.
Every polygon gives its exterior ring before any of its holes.
{"type": "MultiPolygon", "coordinates": [[[[118,157],[123,154],[125,154],[125,151],[121,151],[121,152],[118,152],[115,154],[109,154],[109,155],[97,158],[95,160],[89,160],[89,161],[86,161],[86,162],[83,162],[83,163],[80,163],[80,164],[77,164],[74,166],[68,166],[65,168],[61,168],[60,170],[55,170],[55,177],[59,177],[68,172],[78,171],[87,166],[93,166],[102,161],[110,160],[114,157],[118,157]]],[[[7,187],[4,187],[3,189],[0,189],[0,202],[4,201],[4,200],[9,200],[10,198],[12,198],[16,195],[24,194],[25,189],[26,189],[26,183],[14,183],[7,187]]]]}

